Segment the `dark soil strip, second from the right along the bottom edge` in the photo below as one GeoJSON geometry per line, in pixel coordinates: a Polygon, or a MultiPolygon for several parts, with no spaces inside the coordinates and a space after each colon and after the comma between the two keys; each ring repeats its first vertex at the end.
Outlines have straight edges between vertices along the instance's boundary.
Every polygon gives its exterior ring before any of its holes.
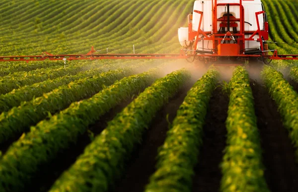
{"type": "Polygon", "coordinates": [[[224,155],[228,101],[222,87],[216,88],[206,115],[203,146],[194,170],[193,192],[218,192],[220,189],[222,173],[219,165],[224,155]]]}

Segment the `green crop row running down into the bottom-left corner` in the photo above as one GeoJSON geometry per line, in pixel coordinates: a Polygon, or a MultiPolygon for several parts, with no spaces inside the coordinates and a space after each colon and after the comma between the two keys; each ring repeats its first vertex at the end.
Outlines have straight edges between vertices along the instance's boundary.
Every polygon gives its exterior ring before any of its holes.
{"type": "Polygon", "coordinates": [[[0,191],[23,191],[33,183],[39,166],[50,163],[59,153],[77,142],[89,124],[153,83],[156,70],[123,78],[89,99],[74,102],[49,120],[31,127],[0,160],[0,191]],[[17,158],[15,158],[15,154],[17,158]],[[29,184],[28,184],[29,183],[29,184]]]}

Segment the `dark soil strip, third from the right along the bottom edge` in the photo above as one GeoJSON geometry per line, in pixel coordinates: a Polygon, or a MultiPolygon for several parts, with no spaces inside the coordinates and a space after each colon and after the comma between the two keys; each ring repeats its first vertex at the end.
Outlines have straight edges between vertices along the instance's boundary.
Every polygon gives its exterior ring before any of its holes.
{"type": "Polygon", "coordinates": [[[149,183],[149,177],[155,171],[157,149],[163,144],[166,137],[168,121],[173,121],[190,87],[187,86],[179,91],[176,96],[169,100],[168,104],[156,113],[149,130],[143,137],[142,145],[136,148],[131,161],[127,164],[123,178],[116,182],[117,185],[115,189],[111,190],[112,192],[144,191],[145,186],[149,183]]]}

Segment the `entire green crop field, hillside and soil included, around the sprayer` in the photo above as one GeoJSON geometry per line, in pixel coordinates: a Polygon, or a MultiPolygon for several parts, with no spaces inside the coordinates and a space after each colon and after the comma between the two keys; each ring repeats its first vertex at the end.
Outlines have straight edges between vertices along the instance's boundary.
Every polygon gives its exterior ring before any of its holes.
{"type": "MultiPolygon", "coordinates": [[[[178,53],[193,2],[1,0],[0,56],[178,53]]],[[[298,54],[297,0],[262,2],[298,54]]],[[[296,192],[297,92],[295,61],[2,62],[0,191],[296,192]]]]}

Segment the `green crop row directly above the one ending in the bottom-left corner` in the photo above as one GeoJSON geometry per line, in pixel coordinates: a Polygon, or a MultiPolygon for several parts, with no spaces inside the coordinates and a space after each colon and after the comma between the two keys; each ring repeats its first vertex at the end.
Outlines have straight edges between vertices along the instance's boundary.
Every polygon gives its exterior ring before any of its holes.
{"type": "Polygon", "coordinates": [[[27,131],[30,125],[44,119],[49,113],[55,113],[68,107],[74,101],[92,96],[102,90],[103,85],[111,85],[116,80],[131,74],[133,71],[126,69],[79,79],[29,102],[25,101],[7,112],[2,112],[0,114],[0,143],[27,131]]]}

